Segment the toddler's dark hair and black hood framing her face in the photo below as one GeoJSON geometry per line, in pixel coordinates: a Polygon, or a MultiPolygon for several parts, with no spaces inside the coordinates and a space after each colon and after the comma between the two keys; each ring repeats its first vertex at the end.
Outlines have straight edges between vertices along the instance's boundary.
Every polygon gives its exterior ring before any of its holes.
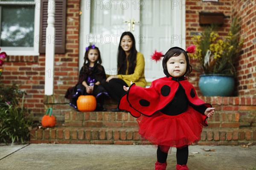
{"type": "Polygon", "coordinates": [[[170,48],[166,54],[164,54],[164,58],[163,58],[163,73],[170,77],[171,75],[168,73],[167,70],[167,62],[171,57],[177,57],[179,56],[181,53],[183,53],[185,55],[186,58],[186,63],[187,63],[187,67],[186,67],[186,73],[184,76],[189,75],[192,72],[192,66],[189,64],[189,56],[186,53],[185,50],[183,50],[182,48],[179,47],[172,47],[170,48]]]}

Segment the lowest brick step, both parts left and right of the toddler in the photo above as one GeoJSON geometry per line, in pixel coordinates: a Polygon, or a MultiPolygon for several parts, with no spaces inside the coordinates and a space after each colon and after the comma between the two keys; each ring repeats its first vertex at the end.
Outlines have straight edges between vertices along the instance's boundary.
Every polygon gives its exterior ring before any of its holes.
{"type": "MultiPolygon", "coordinates": [[[[34,128],[30,131],[31,143],[70,144],[150,144],[142,142],[137,127],[53,127],[34,128]]],[[[256,143],[255,128],[204,128],[201,145],[238,145],[256,143]]]]}

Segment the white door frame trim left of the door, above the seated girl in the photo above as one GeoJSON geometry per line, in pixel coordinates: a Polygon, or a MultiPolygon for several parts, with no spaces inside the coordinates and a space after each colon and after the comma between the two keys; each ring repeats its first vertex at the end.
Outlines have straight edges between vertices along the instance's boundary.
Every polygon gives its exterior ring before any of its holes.
{"type": "Polygon", "coordinates": [[[90,34],[90,0],[81,0],[80,35],[79,35],[79,70],[84,63],[87,36],[90,34]]]}

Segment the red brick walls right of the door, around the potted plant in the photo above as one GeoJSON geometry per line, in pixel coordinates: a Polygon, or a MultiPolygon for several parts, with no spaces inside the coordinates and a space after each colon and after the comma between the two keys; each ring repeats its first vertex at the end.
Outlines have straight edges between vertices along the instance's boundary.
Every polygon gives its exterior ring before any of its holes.
{"type": "MultiPolygon", "coordinates": [[[[199,12],[223,12],[224,25],[218,29],[220,36],[227,35],[233,17],[238,17],[241,26],[241,39],[244,38],[244,46],[236,66],[236,92],[235,96],[256,95],[256,6],[254,0],[219,0],[218,2],[202,2],[201,0],[186,1],[186,46],[192,44],[193,35],[200,34],[204,26],[199,26],[199,12]]],[[[191,60],[192,65],[198,66],[198,62],[191,60]]],[[[202,72],[192,72],[192,84],[199,95],[199,75],[202,72]]]]}

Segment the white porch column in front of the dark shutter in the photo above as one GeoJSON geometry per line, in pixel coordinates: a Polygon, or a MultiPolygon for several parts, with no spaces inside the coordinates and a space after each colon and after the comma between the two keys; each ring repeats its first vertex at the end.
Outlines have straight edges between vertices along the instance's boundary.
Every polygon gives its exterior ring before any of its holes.
{"type": "Polygon", "coordinates": [[[53,94],[54,82],[54,54],[55,54],[55,0],[48,1],[48,19],[46,28],[46,47],[45,47],[45,78],[44,95],[53,94]]]}

